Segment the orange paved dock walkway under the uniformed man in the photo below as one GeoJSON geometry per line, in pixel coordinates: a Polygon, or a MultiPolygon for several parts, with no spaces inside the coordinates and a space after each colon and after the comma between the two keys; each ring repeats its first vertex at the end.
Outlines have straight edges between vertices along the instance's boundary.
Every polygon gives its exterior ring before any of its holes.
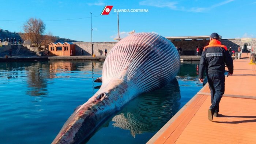
{"type": "Polygon", "coordinates": [[[234,60],[234,75],[226,77],[220,117],[209,121],[208,83],[148,144],[256,144],[256,65],[234,60]]]}

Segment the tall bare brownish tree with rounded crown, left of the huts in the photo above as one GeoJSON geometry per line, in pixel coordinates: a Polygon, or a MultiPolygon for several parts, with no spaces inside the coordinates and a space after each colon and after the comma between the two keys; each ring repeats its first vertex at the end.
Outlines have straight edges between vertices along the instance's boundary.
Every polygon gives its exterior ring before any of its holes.
{"type": "Polygon", "coordinates": [[[39,43],[41,43],[42,34],[45,31],[45,24],[41,19],[30,18],[23,24],[23,31],[25,32],[25,38],[30,38],[35,46],[41,48],[39,43]]]}

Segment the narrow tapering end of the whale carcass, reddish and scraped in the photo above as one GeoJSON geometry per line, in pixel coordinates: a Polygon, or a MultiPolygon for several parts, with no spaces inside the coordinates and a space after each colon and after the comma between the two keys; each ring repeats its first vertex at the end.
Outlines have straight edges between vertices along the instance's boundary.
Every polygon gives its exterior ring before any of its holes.
{"type": "Polygon", "coordinates": [[[136,88],[123,80],[113,80],[104,84],[86,103],[68,118],[52,144],[81,143],[98,128],[106,118],[134,98],[136,88]]]}

